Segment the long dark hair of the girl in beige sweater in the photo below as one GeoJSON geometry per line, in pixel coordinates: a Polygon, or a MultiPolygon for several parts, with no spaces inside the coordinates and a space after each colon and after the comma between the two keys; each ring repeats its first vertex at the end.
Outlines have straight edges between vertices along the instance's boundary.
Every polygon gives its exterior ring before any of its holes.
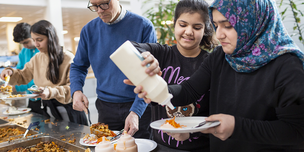
{"type": "Polygon", "coordinates": [[[50,58],[47,68],[47,79],[52,81],[53,84],[59,83],[59,65],[63,62],[64,54],[62,47],[59,45],[59,39],[54,26],[48,21],[41,20],[31,27],[30,32],[47,36],[47,54],[50,58]]]}

